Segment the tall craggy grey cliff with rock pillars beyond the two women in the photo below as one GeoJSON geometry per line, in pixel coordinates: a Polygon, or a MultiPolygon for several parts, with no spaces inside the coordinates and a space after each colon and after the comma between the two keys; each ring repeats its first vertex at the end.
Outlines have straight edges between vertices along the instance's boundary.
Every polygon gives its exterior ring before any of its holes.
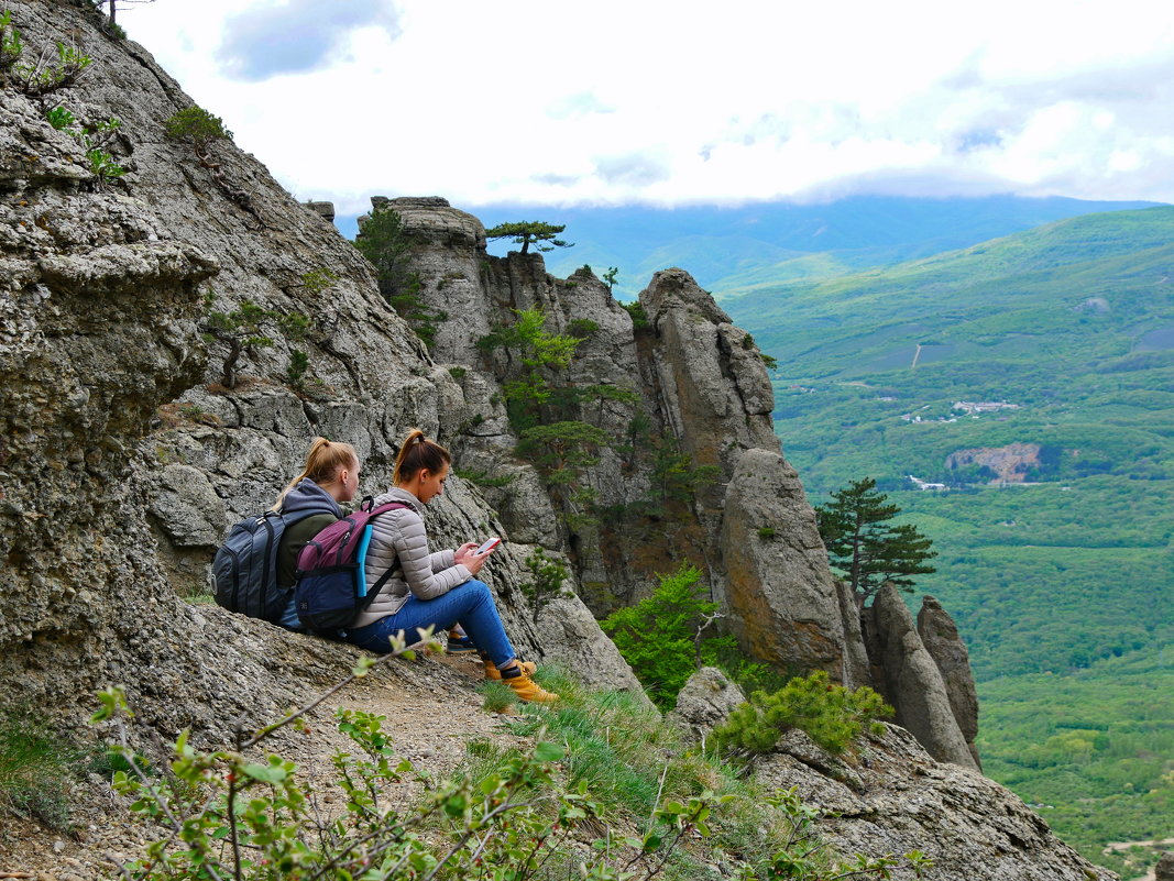
{"type": "Polygon", "coordinates": [[[814,513],[774,434],[760,353],[687,272],[654,276],[640,296],[636,327],[587,269],[556,279],[541,255],[491,257],[480,222],[443,201],[373,202],[402,217],[420,297],[446,314],[432,355],[456,366],[484,416],[459,439],[461,461],[514,476],[487,490],[511,534],[566,549],[579,592],[596,614],[646,595],[656,572],[694,562],[751,656],[864,684],[863,666],[845,662],[863,655],[851,636],[858,626],[845,626],[814,513]],[[501,404],[517,358],[477,345],[534,309],[552,333],[591,324],[561,379],[586,400],[549,419],[581,420],[613,439],[586,469],[605,511],[595,521],[568,516],[534,469],[518,462],[501,404]],[[707,477],[688,490],[666,486],[657,456],[667,453],[683,454],[707,477]]]}

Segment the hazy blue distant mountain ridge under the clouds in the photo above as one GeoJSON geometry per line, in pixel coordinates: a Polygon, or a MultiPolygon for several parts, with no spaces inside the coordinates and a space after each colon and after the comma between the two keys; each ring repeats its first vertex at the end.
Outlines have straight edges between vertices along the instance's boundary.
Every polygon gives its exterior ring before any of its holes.
{"type": "MultiPolygon", "coordinates": [[[[501,204],[473,210],[485,225],[520,219],[566,224],[571,249],[547,255],[547,269],[568,276],[589,264],[620,269],[615,293],[632,299],[653,273],[681,266],[717,296],[778,280],[828,278],[966,248],[1078,215],[1153,205],[1051,197],[904,198],[852,196],[825,204],[763,202],[699,205],[558,208],[501,204]]],[[[470,209],[468,205],[459,205],[470,209]]],[[[353,217],[339,217],[353,238],[353,217]]],[[[505,255],[508,243],[491,245],[505,255]]]]}

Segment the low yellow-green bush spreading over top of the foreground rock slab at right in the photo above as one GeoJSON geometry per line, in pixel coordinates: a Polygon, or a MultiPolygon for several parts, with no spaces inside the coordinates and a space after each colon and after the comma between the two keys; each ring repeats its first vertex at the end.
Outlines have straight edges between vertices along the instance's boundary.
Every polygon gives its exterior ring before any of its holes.
{"type": "Polygon", "coordinates": [[[828,752],[842,753],[865,725],[883,732],[876,719],[884,716],[892,716],[892,707],[872,689],[834,685],[825,671],[817,670],[774,694],[756,691],[714,731],[714,744],[723,752],[764,753],[784,731],[799,728],[828,752]]]}

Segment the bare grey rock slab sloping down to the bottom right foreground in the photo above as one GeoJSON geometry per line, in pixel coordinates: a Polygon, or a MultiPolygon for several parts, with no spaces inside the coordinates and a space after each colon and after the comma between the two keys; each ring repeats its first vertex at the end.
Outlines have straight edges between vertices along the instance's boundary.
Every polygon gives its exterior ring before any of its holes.
{"type": "Polygon", "coordinates": [[[756,763],[760,782],[824,812],[819,829],[841,853],[920,850],[929,881],[1113,881],[1060,841],[1014,794],[976,771],[939,764],[886,726],[857,758],[823,753],[801,732],[756,763]]]}

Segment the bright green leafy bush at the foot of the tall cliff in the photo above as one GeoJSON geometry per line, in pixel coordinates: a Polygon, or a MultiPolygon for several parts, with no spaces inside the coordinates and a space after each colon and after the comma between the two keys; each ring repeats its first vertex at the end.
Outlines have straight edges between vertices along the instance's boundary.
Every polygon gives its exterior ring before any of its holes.
{"type": "Polygon", "coordinates": [[[600,622],[623,659],[662,710],[676,703],[681,686],[703,664],[716,662],[733,637],[704,637],[716,621],[717,603],[701,598],[701,570],[682,565],[662,575],[652,597],[616,609],[600,622]]]}

